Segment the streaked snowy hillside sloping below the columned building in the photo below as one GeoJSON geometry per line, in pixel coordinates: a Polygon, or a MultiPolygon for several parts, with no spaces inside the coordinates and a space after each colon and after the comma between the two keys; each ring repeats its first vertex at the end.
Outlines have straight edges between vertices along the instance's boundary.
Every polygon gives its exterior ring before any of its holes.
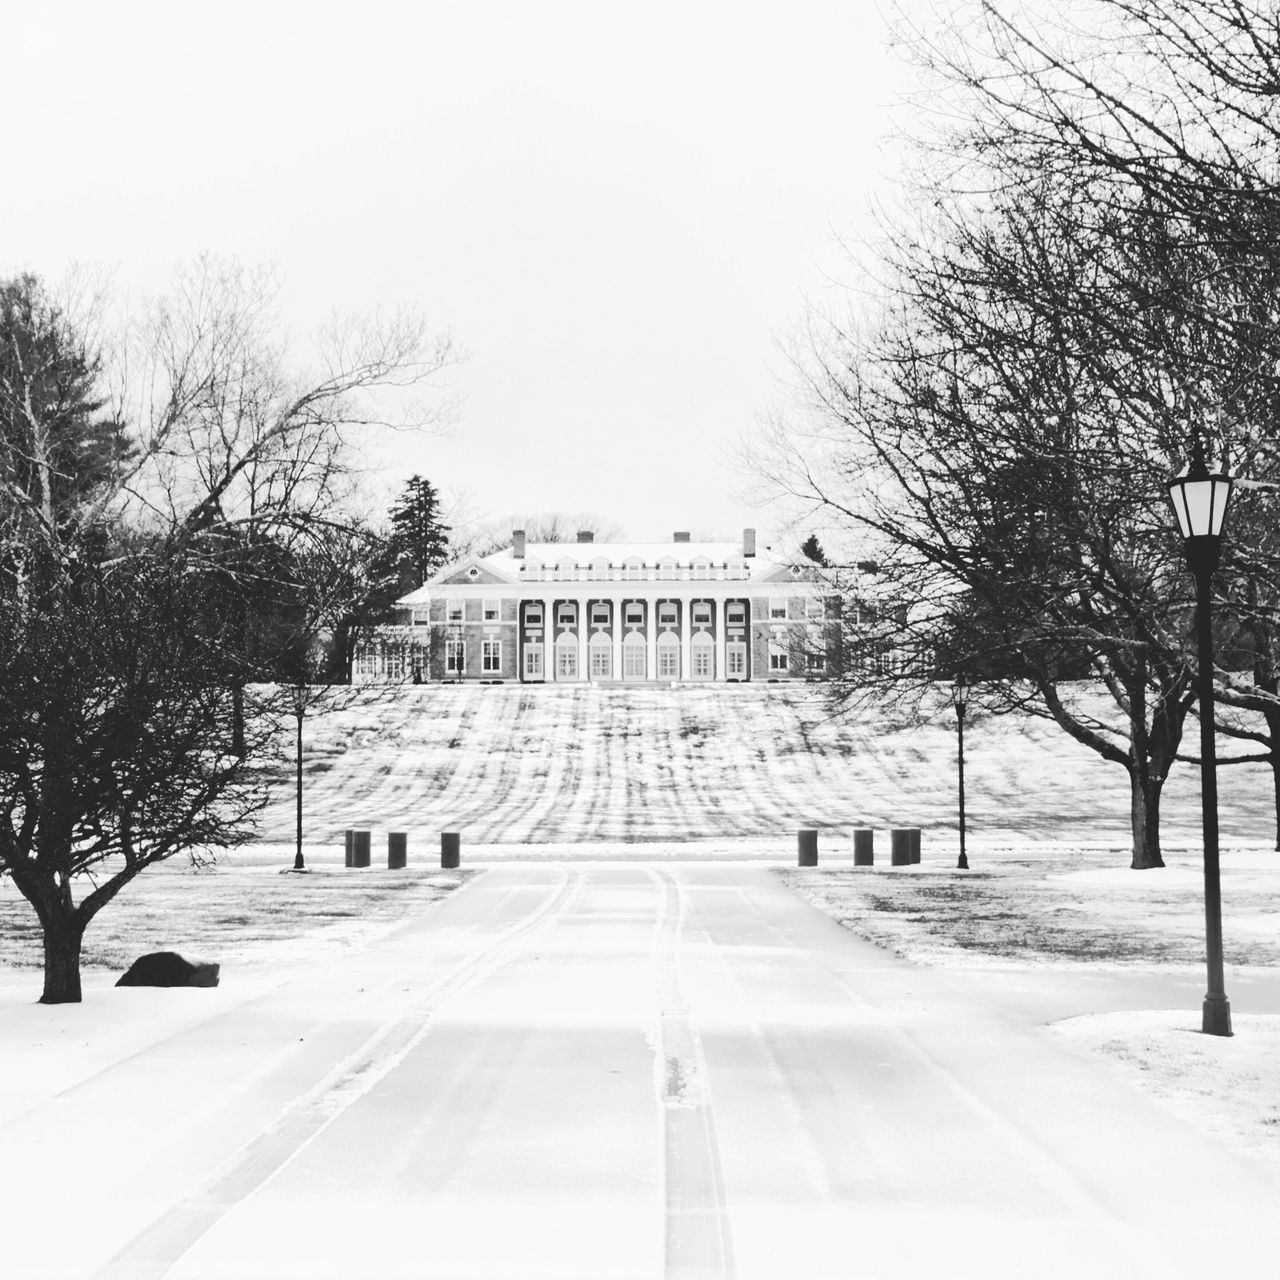
{"type": "MultiPolygon", "coordinates": [[[[467,844],[777,840],[797,827],[920,826],[952,833],[956,735],[933,724],[832,722],[815,687],[411,686],[307,721],[305,838],[344,827],[467,844]]],[[[1129,791],[1043,721],[966,726],[969,829],[978,837],[1128,840],[1129,791]]],[[[264,841],[293,837],[292,769],[264,841]]],[[[1220,771],[1225,840],[1272,840],[1270,772],[1220,771]]],[[[1199,832],[1199,782],[1165,788],[1166,842],[1199,832]]]]}

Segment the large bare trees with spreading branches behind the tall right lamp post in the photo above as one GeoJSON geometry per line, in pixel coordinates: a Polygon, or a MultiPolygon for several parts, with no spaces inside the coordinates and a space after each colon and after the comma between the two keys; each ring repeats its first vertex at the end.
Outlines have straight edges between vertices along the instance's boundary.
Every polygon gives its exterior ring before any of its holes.
{"type": "Polygon", "coordinates": [[[1238,477],[1224,728],[1272,769],[1280,847],[1280,18],[972,0],[902,45],[923,110],[867,260],[874,301],[814,317],[806,412],[759,456],[906,605],[845,637],[844,694],[892,646],[882,692],[961,676],[1052,719],[1128,772],[1133,865],[1162,865],[1196,677],[1165,486],[1199,438],[1238,477]]]}

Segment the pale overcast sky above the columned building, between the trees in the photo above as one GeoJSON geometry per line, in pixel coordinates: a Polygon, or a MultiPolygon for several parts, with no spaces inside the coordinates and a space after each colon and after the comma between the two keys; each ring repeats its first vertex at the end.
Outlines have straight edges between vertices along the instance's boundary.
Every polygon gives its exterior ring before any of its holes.
{"type": "Polygon", "coordinates": [[[397,439],[388,489],[769,530],[728,454],[892,169],[881,9],[23,5],[0,273],[88,260],[146,292],[207,250],[276,264],[300,332],[415,303],[470,355],[452,436],[397,439]]]}

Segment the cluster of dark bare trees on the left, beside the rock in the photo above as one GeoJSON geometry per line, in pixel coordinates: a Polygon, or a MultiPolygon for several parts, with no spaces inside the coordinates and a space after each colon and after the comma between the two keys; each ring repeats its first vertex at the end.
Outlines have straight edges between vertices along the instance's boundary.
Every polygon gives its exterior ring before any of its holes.
{"type": "Polygon", "coordinates": [[[360,434],[426,420],[379,393],[452,358],[403,314],[332,326],[294,374],[270,301],[227,264],[182,273],[97,425],[96,355],[56,307],[6,311],[0,864],[40,916],[46,1002],[81,998],[84,929],[146,867],[252,833],[288,704],[251,681],[291,678],[323,613],[297,566],[346,520],[360,434]]]}

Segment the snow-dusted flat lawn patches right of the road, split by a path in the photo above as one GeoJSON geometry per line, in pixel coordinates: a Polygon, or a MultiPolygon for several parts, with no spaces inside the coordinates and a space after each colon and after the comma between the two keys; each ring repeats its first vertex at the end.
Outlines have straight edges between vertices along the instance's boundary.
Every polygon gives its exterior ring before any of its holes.
{"type": "Polygon", "coordinates": [[[1166,850],[1164,870],[1134,872],[1120,849],[979,842],[969,872],[955,869],[948,849],[911,868],[778,874],[858,936],[920,964],[987,970],[993,980],[1110,975],[1112,988],[1128,977],[1135,1002],[1153,975],[1185,979],[1181,1007],[1100,1011],[1048,1030],[1140,1083],[1183,1120],[1280,1161],[1280,854],[1224,850],[1230,1039],[1199,1034],[1199,851],[1166,850]],[[1251,1002],[1266,1011],[1251,1011],[1251,1002]]]}

